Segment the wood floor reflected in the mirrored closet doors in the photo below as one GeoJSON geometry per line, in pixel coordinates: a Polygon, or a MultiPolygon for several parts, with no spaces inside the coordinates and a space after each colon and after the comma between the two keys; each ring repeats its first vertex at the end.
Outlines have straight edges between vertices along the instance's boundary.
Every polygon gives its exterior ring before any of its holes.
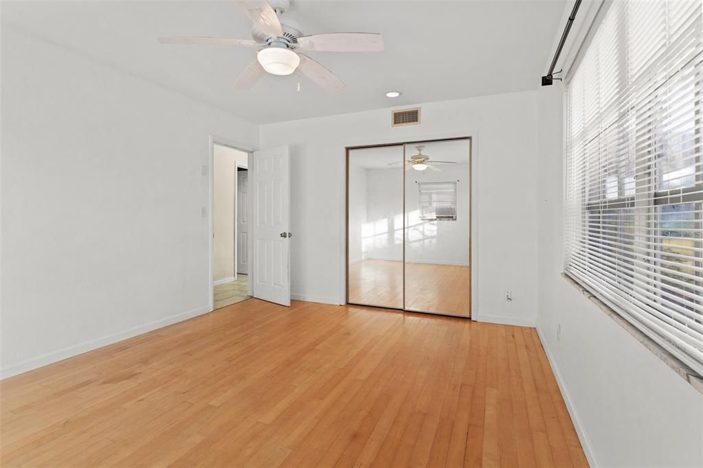
{"type": "MultiPolygon", "coordinates": [[[[470,315],[470,268],[406,264],[406,308],[411,311],[470,315]]],[[[363,260],[349,265],[349,302],[403,308],[403,262],[363,260]]]]}

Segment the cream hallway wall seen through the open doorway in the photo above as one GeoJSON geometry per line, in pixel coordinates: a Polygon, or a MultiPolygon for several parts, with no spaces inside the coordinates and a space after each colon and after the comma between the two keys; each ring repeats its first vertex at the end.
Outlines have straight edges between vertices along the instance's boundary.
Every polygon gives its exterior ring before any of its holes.
{"type": "Polygon", "coordinates": [[[215,284],[235,278],[235,192],[237,166],[247,167],[246,152],[212,146],[212,278],[215,284]]]}

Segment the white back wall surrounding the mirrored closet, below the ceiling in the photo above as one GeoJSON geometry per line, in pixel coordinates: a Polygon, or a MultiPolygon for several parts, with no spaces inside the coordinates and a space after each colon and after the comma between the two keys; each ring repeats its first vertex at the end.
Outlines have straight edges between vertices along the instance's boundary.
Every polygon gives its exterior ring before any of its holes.
{"type": "MultiPolygon", "coordinates": [[[[533,91],[426,103],[418,126],[390,126],[390,109],[319,117],[259,129],[262,148],[288,144],[292,159],[292,292],[343,301],[344,146],[475,137],[475,223],[482,320],[536,319],[536,101],[533,91]],[[324,196],[321,196],[324,194],[324,196]],[[520,235],[516,235],[517,230],[520,235]],[[505,301],[510,290],[514,300],[505,301]]],[[[475,272],[476,273],[476,272],[475,272]]]]}

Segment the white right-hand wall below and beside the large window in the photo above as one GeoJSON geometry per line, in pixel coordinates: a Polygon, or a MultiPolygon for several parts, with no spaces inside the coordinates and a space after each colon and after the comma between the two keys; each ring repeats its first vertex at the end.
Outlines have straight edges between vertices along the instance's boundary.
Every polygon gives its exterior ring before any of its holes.
{"type": "Polygon", "coordinates": [[[584,449],[603,467],[703,466],[703,395],[560,276],[561,85],[538,91],[538,122],[537,326],[584,449]]]}

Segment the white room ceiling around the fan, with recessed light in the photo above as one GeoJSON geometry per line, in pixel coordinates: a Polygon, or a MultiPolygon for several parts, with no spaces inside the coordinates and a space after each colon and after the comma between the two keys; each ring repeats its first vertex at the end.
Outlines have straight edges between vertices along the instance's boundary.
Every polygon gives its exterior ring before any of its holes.
{"type": "Polygon", "coordinates": [[[304,34],[380,32],[382,53],[310,53],[347,89],[267,75],[234,91],[256,49],[158,44],[160,35],[250,39],[233,1],[3,1],[2,21],[257,123],[536,89],[564,0],[292,0],[304,34]],[[403,91],[389,99],[385,91],[403,91]]]}

